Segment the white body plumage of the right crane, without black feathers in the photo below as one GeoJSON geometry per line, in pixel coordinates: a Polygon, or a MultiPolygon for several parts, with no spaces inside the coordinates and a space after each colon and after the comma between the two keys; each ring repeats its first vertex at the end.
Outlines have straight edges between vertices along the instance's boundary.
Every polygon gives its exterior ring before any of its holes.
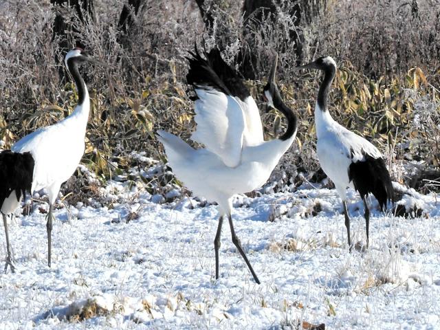
{"type": "Polygon", "coordinates": [[[375,159],[382,155],[373,144],[338,124],[329,111],[322,111],[318,104],[315,107],[315,122],[320,165],[344,200],[346,188],[353,188],[353,182],[349,181],[349,166],[363,162],[366,154],[375,159]]]}

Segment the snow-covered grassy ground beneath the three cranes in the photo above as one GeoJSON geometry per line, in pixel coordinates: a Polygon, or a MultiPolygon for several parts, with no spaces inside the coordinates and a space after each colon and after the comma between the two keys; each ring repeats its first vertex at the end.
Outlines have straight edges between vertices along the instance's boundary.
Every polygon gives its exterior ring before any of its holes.
{"type": "MultiPolygon", "coordinates": [[[[382,214],[370,199],[371,246],[351,254],[335,190],[237,196],[234,225],[257,285],[227,222],[215,280],[216,206],[179,191],[167,203],[127,182],[105,189],[107,207],[56,210],[52,268],[47,203],[29,216],[17,210],[17,272],[0,275],[0,329],[440,329],[435,195],[406,191],[419,218],[382,214]]],[[[362,245],[362,202],[349,197],[352,238],[362,245]]]]}

